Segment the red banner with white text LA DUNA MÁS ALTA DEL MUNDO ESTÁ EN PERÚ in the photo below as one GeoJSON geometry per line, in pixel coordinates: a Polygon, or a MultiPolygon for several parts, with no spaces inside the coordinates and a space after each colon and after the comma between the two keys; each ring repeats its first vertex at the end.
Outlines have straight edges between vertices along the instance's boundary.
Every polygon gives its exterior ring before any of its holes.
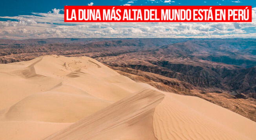
{"type": "Polygon", "coordinates": [[[252,6],[64,6],[65,22],[252,22],[252,6]]]}

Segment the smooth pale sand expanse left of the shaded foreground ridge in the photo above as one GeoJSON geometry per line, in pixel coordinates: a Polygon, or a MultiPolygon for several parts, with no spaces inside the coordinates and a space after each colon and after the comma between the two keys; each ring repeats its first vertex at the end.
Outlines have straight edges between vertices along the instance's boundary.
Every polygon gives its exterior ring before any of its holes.
{"type": "Polygon", "coordinates": [[[1,140],[41,140],[139,89],[118,86],[135,82],[89,57],[1,64],[0,76],[1,140]]]}

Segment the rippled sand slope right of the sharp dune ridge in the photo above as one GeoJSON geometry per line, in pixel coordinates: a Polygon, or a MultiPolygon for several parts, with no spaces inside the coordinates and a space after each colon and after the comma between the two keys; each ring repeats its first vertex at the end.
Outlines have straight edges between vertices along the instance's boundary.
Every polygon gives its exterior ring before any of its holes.
{"type": "Polygon", "coordinates": [[[199,97],[165,93],[154,113],[159,140],[255,140],[256,123],[199,97]]]}

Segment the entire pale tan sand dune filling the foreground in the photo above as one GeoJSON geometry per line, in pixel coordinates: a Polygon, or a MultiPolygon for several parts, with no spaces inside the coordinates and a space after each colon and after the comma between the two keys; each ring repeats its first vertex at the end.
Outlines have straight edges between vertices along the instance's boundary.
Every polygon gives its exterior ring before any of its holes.
{"type": "Polygon", "coordinates": [[[255,140],[256,122],[89,57],[0,65],[0,140],[255,140]]]}

